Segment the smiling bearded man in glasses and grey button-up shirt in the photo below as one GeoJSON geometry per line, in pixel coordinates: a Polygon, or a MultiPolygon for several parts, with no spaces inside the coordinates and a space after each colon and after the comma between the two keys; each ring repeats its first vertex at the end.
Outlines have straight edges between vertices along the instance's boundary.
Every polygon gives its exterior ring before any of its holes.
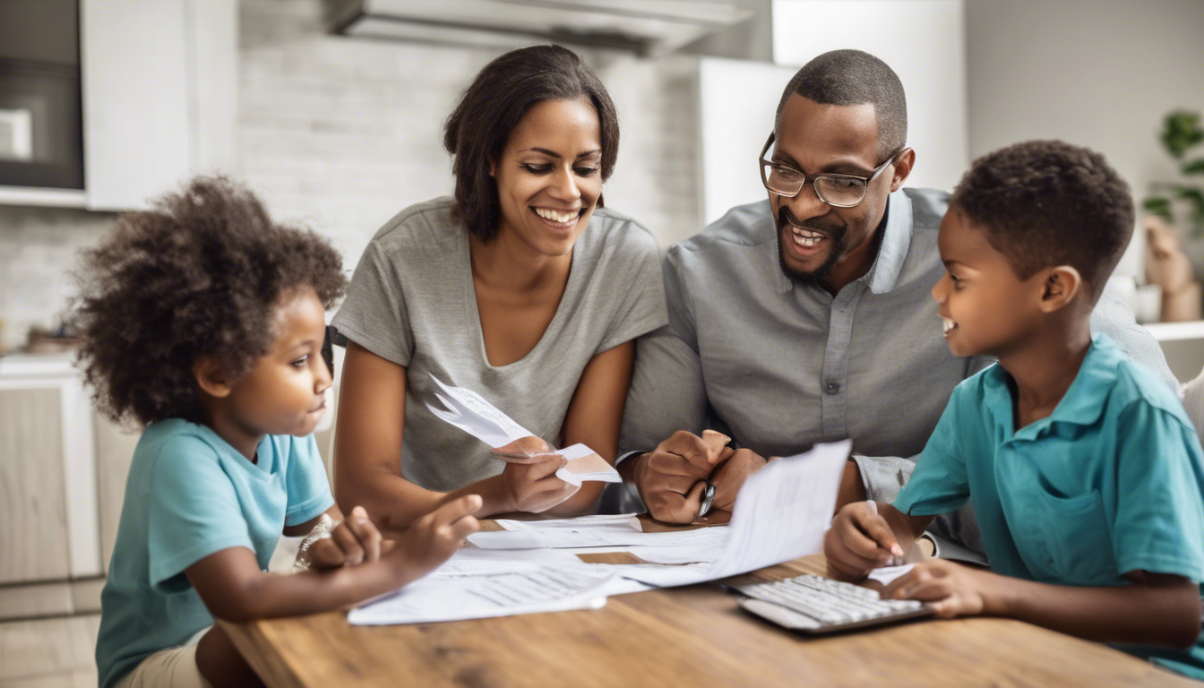
{"type": "MultiPolygon", "coordinates": [[[[990,363],[945,346],[928,292],[949,195],[902,188],[916,160],[905,142],[895,72],[860,51],[825,53],[778,106],[760,155],[768,202],[669,249],[669,324],[638,341],[620,440],[619,470],[655,518],[730,511],[765,457],[845,437],[855,455],[837,508],[890,501],[954,387],[990,363]]],[[[1174,384],[1121,301],[1105,293],[1092,327],[1174,384]]],[[[937,530],[981,551],[969,510],[937,530]]]]}

